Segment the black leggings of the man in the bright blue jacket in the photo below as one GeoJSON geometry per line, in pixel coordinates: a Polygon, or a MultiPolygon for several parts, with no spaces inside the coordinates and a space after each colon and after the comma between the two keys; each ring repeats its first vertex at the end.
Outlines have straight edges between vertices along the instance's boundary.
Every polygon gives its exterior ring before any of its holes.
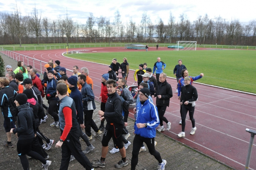
{"type": "Polygon", "coordinates": [[[135,167],[139,160],[138,158],[139,150],[143,142],[145,142],[145,144],[147,145],[149,153],[153,155],[156,158],[156,160],[158,160],[158,163],[163,162],[160,153],[155,149],[155,138],[145,138],[145,137],[141,137],[140,135],[135,135],[133,148],[132,148],[131,170],[135,170],[135,167]]]}

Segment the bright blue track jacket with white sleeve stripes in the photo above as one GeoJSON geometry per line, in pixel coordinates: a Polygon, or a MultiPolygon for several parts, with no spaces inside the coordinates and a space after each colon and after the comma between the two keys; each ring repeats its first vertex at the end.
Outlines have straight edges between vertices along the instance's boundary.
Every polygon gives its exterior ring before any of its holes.
{"type": "Polygon", "coordinates": [[[134,123],[135,134],[145,138],[156,137],[156,127],[159,125],[159,117],[156,106],[146,100],[143,105],[137,105],[136,120],[134,123]],[[137,123],[147,123],[146,127],[139,129],[137,123]]]}

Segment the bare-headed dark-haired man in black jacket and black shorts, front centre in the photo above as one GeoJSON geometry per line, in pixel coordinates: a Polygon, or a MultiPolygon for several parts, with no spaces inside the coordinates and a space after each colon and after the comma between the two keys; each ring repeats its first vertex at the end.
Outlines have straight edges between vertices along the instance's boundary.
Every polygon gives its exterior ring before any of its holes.
{"type": "Polygon", "coordinates": [[[105,112],[98,111],[100,118],[105,118],[107,121],[104,135],[102,138],[102,153],[100,160],[93,161],[92,165],[94,167],[105,167],[105,159],[108,153],[108,142],[113,137],[115,140],[117,147],[122,156],[122,160],[115,164],[115,168],[122,168],[123,166],[128,165],[128,161],[126,160],[126,152],[124,149],[124,145],[122,143],[122,128],[124,126],[124,121],[122,119],[122,101],[121,97],[115,91],[115,87],[117,83],[110,79],[106,81],[107,89],[108,89],[108,100],[106,102],[105,112]]]}

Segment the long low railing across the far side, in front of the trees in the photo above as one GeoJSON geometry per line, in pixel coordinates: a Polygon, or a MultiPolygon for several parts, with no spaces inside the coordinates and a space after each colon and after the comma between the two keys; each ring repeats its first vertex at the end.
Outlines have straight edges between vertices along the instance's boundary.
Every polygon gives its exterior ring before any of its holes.
{"type": "MultiPolygon", "coordinates": [[[[128,44],[128,43],[127,43],[128,44]]],[[[130,43],[140,44],[140,43],[130,43]]],[[[146,43],[143,43],[146,44],[146,43]]],[[[124,47],[126,44],[70,44],[70,45],[46,45],[46,46],[0,46],[10,51],[23,51],[23,50],[55,50],[65,48],[91,48],[91,47],[124,47]]],[[[159,44],[159,47],[167,47],[173,44],[159,44]]],[[[182,45],[182,44],[181,44],[182,45]]],[[[187,44],[184,44],[187,45],[187,44]]],[[[148,44],[149,47],[156,47],[156,44],[148,44]]],[[[195,45],[192,47],[195,48],[195,45]]],[[[256,50],[256,46],[228,46],[228,45],[198,45],[197,48],[220,48],[220,49],[249,49],[256,50]]]]}

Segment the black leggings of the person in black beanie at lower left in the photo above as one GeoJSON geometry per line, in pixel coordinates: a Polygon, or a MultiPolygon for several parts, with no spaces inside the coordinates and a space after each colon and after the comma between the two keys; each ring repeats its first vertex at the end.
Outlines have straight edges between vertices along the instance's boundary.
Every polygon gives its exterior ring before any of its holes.
{"type": "Polygon", "coordinates": [[[17,152],[24,170],[29,170],[29,163],[26,155],[41,161],[43,164],[46,164],[46,160],[39,153],[31,150],[33,139],[34,138],[26,140],[19,139],[17,142],[17,152]]]}

